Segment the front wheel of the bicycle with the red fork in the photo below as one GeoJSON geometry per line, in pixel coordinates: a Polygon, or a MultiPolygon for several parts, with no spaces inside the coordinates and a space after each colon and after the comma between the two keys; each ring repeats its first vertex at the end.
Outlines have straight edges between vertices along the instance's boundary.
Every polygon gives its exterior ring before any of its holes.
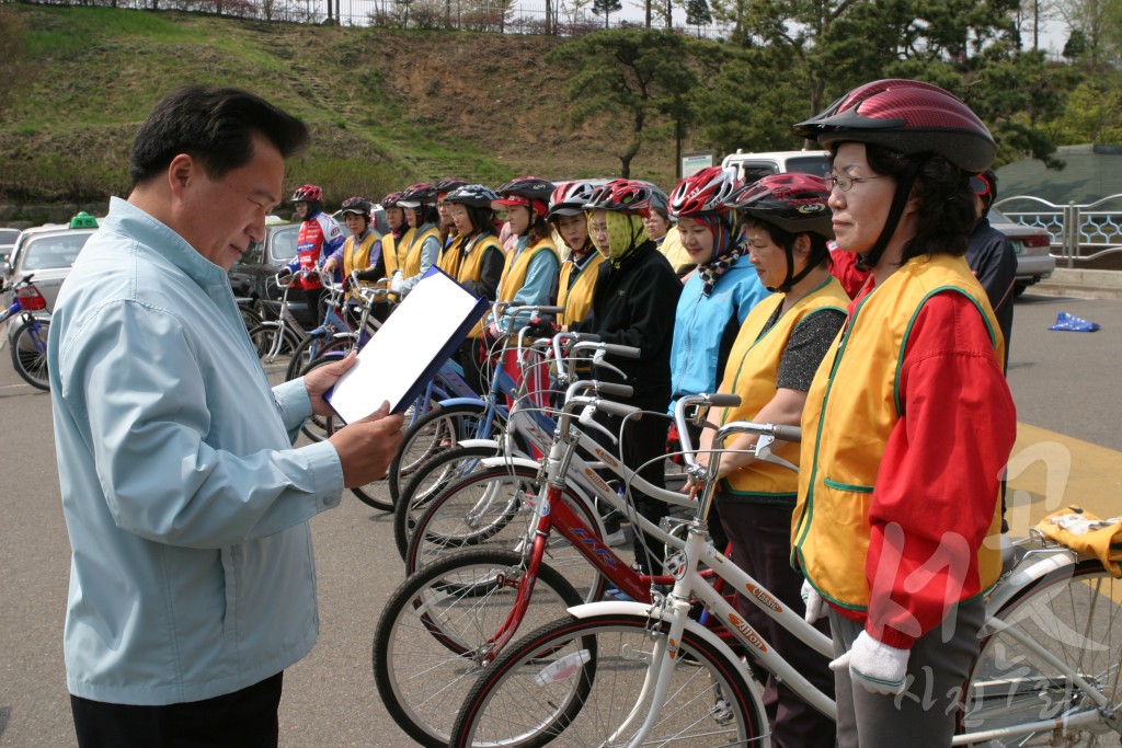
{"type": "MultiPolygon", "coordinates": [[[[452,719],[527,581],[521,554],[472,548],[410,576],[389,597],[374,634],[374,682],[386,711],[422,746],[447,746],[452,719]],[[504,579],[496,581],[496,574],[504,579]]],[[[534,629],[580,604],[560,572],[541,564],[519,626],[534,629]]]]}

